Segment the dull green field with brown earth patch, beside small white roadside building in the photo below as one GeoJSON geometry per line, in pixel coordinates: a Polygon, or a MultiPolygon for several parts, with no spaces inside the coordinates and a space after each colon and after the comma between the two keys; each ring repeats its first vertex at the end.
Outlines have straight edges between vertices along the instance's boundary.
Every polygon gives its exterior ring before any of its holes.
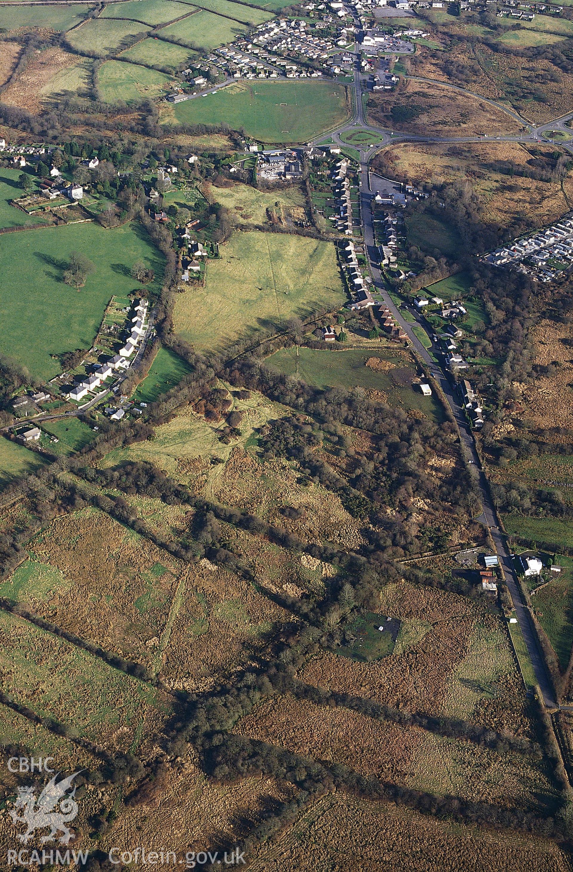
{"type": "Polygon", "coordinates": [[[383,391],[388,394],[388,403],[408,411],[415,409],[428,415],[429,418],[442,420],[442,407],[434,396],[424,397],[415,391],[411,385],[404,385],[400,378],[397,383],[393,378],[393,370],[375,371],[366,365],[368,358],[377,357],[394,364],[394,375],[403,374],[409,370],[415,376],[414,364],[397,355],[392,350],[375,351],[317,351],[311,348],[285,348],[276,351],[266,358],[269,369],[279,371],[287,376],[300,378],[307,385],[325,387],[361,387],[366,390],[383,391]],[[398,372],[399,371],[399,372],[398,372]],[[400,381],[402,384],[400,384],[400,381]]]}

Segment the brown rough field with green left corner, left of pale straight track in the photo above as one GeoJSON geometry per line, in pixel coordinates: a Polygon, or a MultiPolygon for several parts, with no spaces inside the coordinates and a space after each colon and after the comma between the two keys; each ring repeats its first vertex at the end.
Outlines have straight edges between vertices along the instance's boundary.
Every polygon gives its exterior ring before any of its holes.
{"type": "Polygon", "coordinates": [[[30,554],[0,594],[14,591],[41,617],[152,667],[185,564],[98,509],[56,518],[30,554]]]}

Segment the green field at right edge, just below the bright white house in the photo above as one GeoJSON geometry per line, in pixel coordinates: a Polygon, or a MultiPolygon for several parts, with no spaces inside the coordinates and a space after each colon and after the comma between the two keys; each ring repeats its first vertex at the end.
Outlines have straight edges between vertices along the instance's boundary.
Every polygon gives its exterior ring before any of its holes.
{"type": "Polygon", "coordinates": [[[561,573],[534,593],[531,602],[564,671],[573,645],[573,561],[560,557],[558,562],[563,565],[561,573]]]}

